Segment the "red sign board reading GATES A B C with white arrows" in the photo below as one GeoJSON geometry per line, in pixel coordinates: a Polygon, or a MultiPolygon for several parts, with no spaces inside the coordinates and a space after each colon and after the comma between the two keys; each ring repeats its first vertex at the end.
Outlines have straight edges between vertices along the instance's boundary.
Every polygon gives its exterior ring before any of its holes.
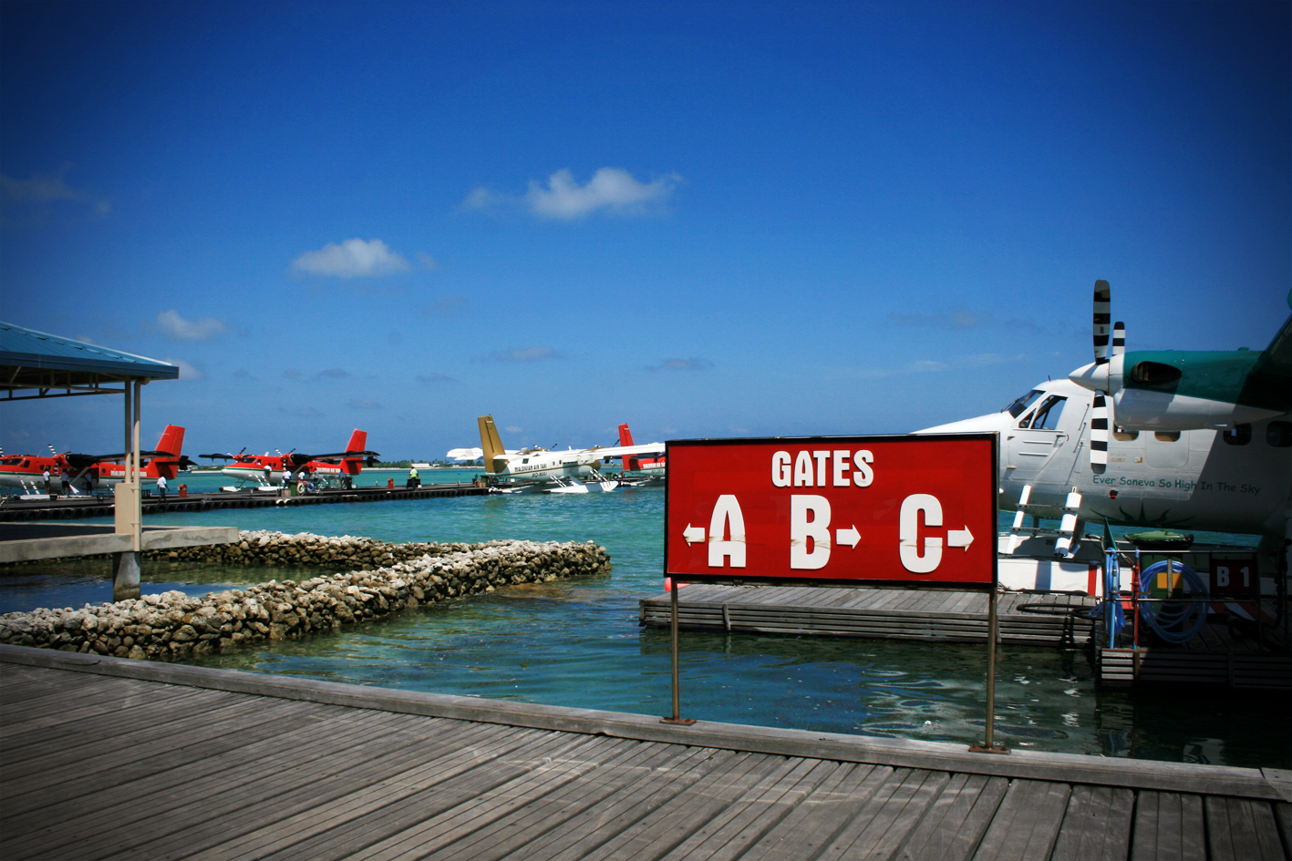
{"type": "Polygon", "coordinates": [[[665,573],[994,587],[997,452],[995,434],[671,441],[665,573]]]}

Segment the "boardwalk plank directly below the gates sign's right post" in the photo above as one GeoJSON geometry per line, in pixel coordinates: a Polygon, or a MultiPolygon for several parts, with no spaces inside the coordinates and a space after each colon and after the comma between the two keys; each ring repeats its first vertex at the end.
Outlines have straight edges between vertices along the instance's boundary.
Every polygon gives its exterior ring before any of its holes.
{"type": "Polygon", "coordinates": [[[1004,777],[952,775],[898,858],[969,861],[1008,789],[1004,777]]]}

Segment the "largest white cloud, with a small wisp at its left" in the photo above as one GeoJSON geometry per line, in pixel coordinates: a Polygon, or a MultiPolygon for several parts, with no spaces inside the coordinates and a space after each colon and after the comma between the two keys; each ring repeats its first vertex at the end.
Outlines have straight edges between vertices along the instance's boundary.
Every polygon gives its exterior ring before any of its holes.
{"type": "Polygon", "coordinates": [[[662,205],[682,181],[676,173],[638,182],[623,168],[599,168],[580,186],[574,173],[561,169],[548,177],[547,185],[530,181],[523,198],[516,199],[484,187],[474,188],[463,201],[464,209],[490,209],[517,203],[540,218],[572,221],[605,210],[620,216],[640,216],[662,205]]]}

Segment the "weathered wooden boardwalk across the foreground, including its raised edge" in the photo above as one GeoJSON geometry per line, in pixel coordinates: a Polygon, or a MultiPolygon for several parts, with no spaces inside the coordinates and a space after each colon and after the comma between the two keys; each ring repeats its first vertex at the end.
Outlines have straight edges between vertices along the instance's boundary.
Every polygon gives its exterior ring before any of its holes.
{"type": "Polygon", "coordinates": [[[0,647],[0,857],[1287,858],[1292,773],[0,647]]]}

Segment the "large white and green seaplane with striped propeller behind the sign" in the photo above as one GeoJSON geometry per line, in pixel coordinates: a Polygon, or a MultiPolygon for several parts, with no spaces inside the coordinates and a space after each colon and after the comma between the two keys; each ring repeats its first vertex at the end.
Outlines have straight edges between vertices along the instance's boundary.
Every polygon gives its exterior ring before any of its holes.
{"type": "Polygon", "coordinates": [[[1287,554],[1292,316],[1262,351],[1128,351],[1110,320],[1098,280],[1094,361],[1000,412],[916,431],[1000,434],[1000,507],[1016,512],[1001,560],[1075,559],[1083,524],[1258,534],[1262,558],[1287,554]],[[1047,534],[1040,520],[1061,525],[1047,534]]]}

